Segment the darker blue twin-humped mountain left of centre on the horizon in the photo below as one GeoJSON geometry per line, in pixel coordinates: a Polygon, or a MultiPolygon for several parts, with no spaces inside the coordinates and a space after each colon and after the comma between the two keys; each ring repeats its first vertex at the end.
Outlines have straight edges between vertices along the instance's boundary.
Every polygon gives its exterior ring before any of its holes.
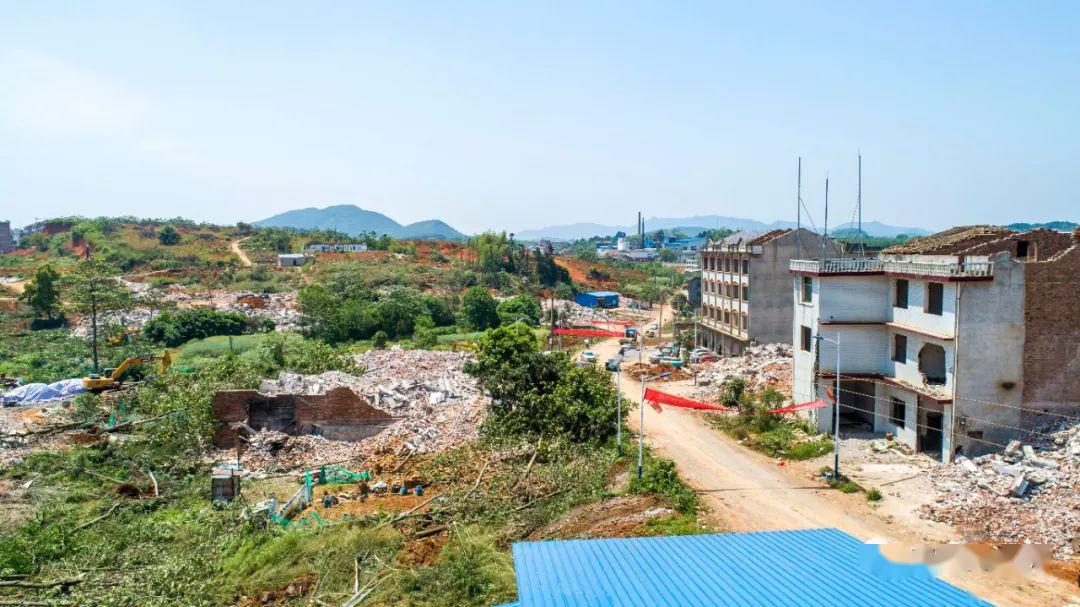
{"type": "Polygon", "coordinates": [[[254,221],[253,225],[262,228],[338,230],[352,235],[375,232],[377,235],[388,234],[397,239],[464,240],[468,238],[438,219],[403,226],[381,213],[366,211],[354,204],[286,211],[273,217],[254,221]]]}

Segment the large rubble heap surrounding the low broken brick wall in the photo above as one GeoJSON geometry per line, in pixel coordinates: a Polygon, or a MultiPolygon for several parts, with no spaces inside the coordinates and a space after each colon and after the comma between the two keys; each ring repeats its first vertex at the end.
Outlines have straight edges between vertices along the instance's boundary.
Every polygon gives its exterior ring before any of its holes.
{"type": "Polygon", "coordinates": [[[326,461],[373,456],[388,450],[431,453],[476,437],[487,396],[462,370],[471,355],[430,350],[372,350],[356,356],[363,375],[327,372],[320,375],[282,373],[264,381],[265,394],[323,394],[350,388],[395,421],[355,443],[321,436],[259,432],[245,454],[248,466],[291,469],[326,461]],[[256,448],[257,447],[257,448],[256,448]]]}

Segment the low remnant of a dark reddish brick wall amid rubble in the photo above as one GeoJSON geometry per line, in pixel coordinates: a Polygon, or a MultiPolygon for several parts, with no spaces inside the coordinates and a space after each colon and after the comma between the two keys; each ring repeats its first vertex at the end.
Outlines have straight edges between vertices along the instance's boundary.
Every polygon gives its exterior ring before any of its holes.
{"type": "Polygon", "coordinates": [[[335,388],[325,394],[280,395],[226,390],[214,394],[212,408],[214,445],[218,448],[235,447],[240,436],[262,430],[362,441],[394,421],[390,414],[348,388],[335,388]]]}

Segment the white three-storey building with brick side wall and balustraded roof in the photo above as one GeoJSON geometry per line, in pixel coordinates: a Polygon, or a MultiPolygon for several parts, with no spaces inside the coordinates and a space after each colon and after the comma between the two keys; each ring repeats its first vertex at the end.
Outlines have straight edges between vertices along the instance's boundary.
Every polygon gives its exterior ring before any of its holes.
{"type": "MultiPolygon", "coordinates": [[[[832,403],[839,353],[841,431],[890,432],[944,461],[1080,408],[1078,243],[975,226],[876,259],[793,260],[795,401],[832,403]]],[[[822,431],[833,415],[811,414],[822,431]]]]}

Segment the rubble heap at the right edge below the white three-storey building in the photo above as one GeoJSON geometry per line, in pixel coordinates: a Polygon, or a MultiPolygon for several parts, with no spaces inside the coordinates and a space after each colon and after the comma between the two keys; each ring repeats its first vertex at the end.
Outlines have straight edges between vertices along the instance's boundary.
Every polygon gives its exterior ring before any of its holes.
{"type": "Polygon", "coordinates": [[[1034,445],[1012,441],[1000,454],[936,468],[931,481],[940,495],[920,514],[980,541],[1045,543],[1057,558],[1076,556],[1080,424],[1055,426],[1034,445]]]}

